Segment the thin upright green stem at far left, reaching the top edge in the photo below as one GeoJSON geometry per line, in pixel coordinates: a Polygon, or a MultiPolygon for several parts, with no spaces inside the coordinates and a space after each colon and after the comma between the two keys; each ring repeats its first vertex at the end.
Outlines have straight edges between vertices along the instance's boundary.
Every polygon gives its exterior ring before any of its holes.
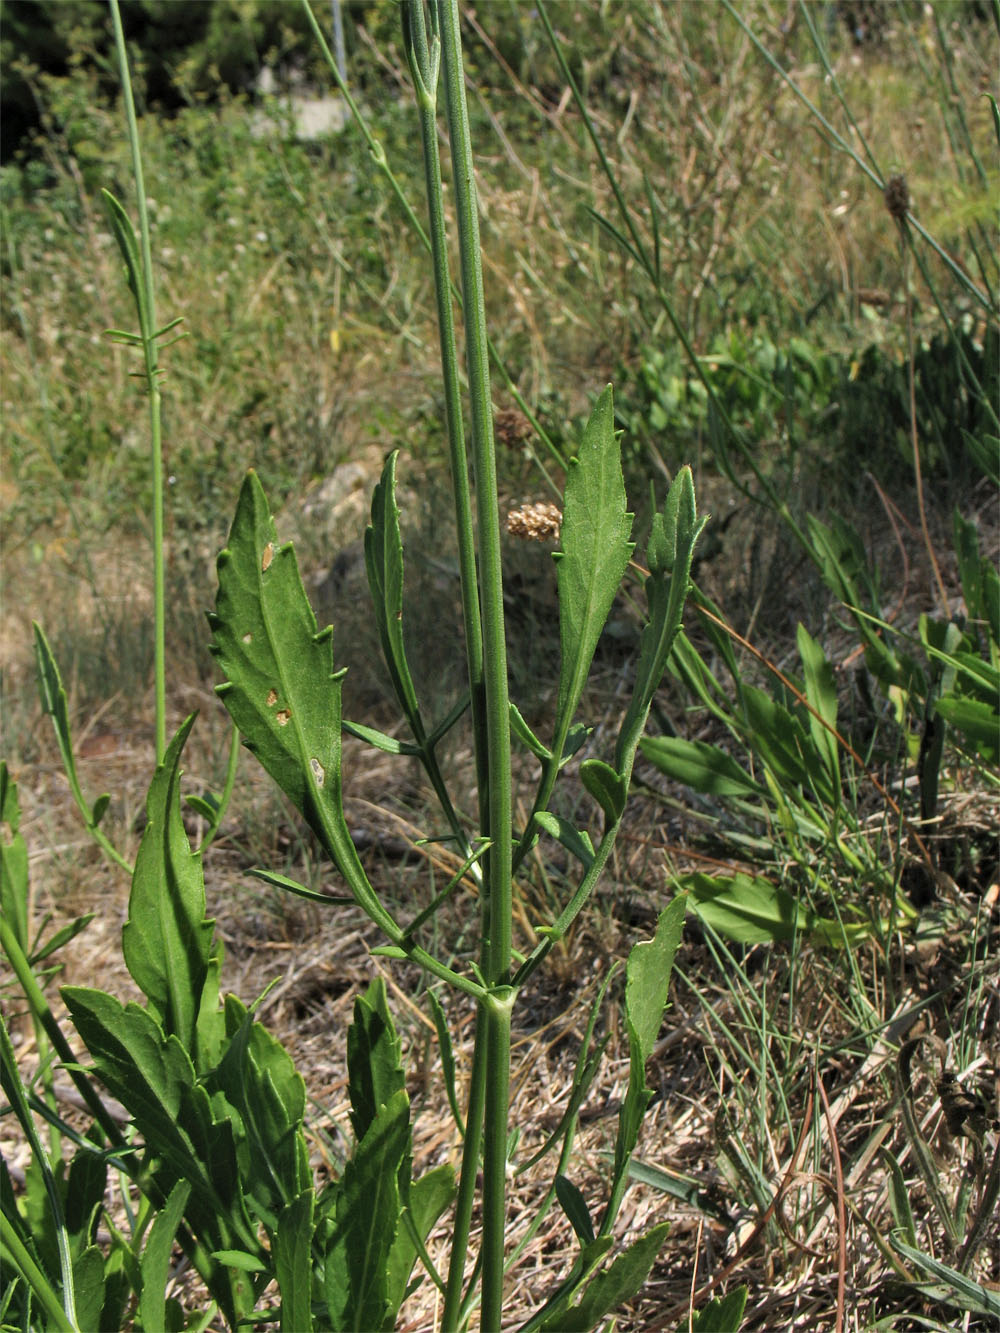
{"type": "Polygon", "coordinates": [[[149,392],[149,459],[152,479],[152,541],[153,541],[153,670],[156,698],[156,762],[163,761],[167,752],[167,644],[164,616],[164,563],[163,563],[163,435],[160,425],[160,383],[157,365],[156,304],[153,293],[153,260],[149,243],[149,212],[145,203],[145,183],[143,179],[143,157],[139,149],[139,124],[132,97],[132,80],[128,69],[125,33],[121,28],[119,0],[109,0],[111,19],[115,28],[115,48],[117,51],[121,75],[121,96],[125,104],[128,143],[132,152],[132,179],[136,187],[139,211],[139,240],[141,245],[141,292],[135,292],[139,307],[139,324],[145,363],[145,383],[149,392]]]}

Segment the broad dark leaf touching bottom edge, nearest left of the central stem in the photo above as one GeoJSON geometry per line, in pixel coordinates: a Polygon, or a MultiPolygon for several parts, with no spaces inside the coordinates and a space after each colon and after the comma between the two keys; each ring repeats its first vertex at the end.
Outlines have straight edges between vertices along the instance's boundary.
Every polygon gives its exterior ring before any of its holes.
{"type": "Polygon", "coordinates": [[[399,1169],[409,1150],[409,1098],[404,1089],[380,1109],[357,1144],[336,1192],[325,1286],[335,1329],[391,1328],[389,1256],[403,1202],[399,1169]]]}

